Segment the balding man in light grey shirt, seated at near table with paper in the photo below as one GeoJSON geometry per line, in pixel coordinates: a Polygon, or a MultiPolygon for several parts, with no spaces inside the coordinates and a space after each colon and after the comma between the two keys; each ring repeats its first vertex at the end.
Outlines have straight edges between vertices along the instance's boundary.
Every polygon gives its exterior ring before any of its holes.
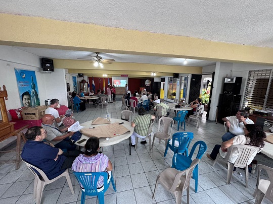
{"type": "Polygon", "coordinates": [[[51,114],[44,114],[42,116],[42,127],[47,130],[47,140],[50,141],[56,148],[67,149],[67,151],[75,150],[76,145],[71,144],[70,136],[74,134],[74,132],[62,133],[67,130],[68,127],[63,129],[59,129],[55,127],[53,124],[54,116],[51,114]]]}

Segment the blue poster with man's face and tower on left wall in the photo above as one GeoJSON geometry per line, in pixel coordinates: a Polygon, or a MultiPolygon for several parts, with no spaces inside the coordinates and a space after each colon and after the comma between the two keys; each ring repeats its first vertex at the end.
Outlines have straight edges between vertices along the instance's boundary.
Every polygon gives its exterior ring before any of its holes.
{"type": "Polygon", "coordinates": [[[14,69],[22,106],[39,106],[39,92],[35,71],[14,69]]]}

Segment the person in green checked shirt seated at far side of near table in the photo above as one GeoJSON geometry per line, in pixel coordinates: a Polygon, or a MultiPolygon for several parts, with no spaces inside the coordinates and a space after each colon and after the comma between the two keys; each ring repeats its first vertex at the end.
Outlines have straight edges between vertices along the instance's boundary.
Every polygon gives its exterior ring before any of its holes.
{"type": "Polygon", "coordinates": [[[132,127],[134,127],[133,133],[131,135],[131,147],[135,147],[135,137],[140,138],[141,144],[146,144],[146,136],[149,130],[150,122],[155,119],[154,115],[145,114],[146,110],[144,107],[140,107],[138,110],[139,115],[136,116],[131,122],[132,127]]]}

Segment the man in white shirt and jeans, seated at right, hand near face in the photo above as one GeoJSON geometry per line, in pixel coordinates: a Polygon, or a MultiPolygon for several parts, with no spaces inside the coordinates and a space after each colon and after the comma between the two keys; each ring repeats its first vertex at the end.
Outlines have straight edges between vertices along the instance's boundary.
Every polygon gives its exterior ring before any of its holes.
{"type": "Polygon", "coordinates": [[[245,110],[238,110],[236,116],[224,117],[222,120],[225,125],[229,127],[229,131],[222,136],[222,141],[228,141],[234,138],[236,135],[244,134],[244,127],[246,124],[254,124],[254,122],[248,118],[249,114],[245,110]]]}

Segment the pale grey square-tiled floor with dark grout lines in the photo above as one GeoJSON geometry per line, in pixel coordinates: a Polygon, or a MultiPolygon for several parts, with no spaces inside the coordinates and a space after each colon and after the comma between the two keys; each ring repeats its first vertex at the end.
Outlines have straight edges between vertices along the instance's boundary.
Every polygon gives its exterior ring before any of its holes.
{"type": "MultiPolygon", "coordinates": [[[[117,101],[109,105],[109,112],[112,118],[119,118],[121,112],[121,102],[117,101]]],[[[150,111],[151,112],[151,111],[150,111]]],[[[135,113],[136,115],[137,113],[135,113]]],[[[86,111],[74,113],[74,116],[80,123],[92,120],[97,117],[105,116],[105,109],[94,108],[93,105],[86,105],[86,111]],[[92,107],[91,107],[92,106],[92,107]]],[[[170,117],[173,117],[173,112],[170,117]]],[[[154,123],[153,133],[157,131],[158,123],[154,123]]],[[[176,132],[177,123],[173,127],[172,133],[176,132]]],[[[180,131],[183,130],[180,128],[180,131]]],[[[222,124],[206,121],[202,119],[200,127],[196,128],[190,124],[186,126],[187,131],[194,132],[194,140],[191,147],[196,141],[202,140],[207,146],[207,152],[211,152],[215,144],[221,143],[221,135],[224,133],[222,124]]],[[[153,134],[152,134],[153,135],[153,134]]],[[[139,140],[140,142],[140,140],[139,140]]],[[[139,144],[136,151],[132,149],[129,155],[128,140],[122,144],[117,144],[103,148],[113,163],[113,175],[116,183],[117,192],[110,185],[105,194],[105,203],[175,203],[174,195],[167,192],[161,185],[158,186],[155,199],[152,199],[155,181],[157,175],[165,168],[171,166],[172,152],[168,151],[166,157],[163,157],[164,145],[155,140],[156,145],[152,151],[149,150],[149,143],[139,144]]],[[[22,144],[23,146],[23,144],[22,144]]],[[[9,160],[15,154],[5,154],[0,160],[9,160]]],[[[273,160],[263,154],[256,156],[258,163],[273,167],[273,160]]],[[[211,166],[206,155],[203,156],[199,163],[199,180],[198,192],[194,191],[194,180],[191,180],[190,203],[253,203],[252,196],[257,179],[257,173],[249,174],[249,186],[244,186],[243,174],[233,174],[231,184],[225,183],[226,167],[220,164],[211,166]]],[[[70,174],[75,194],[71,194],[65,178],[59,179],[50,185],[47,185],[42,194],[42,203],[80,203],[80,187],[74,177],[70,174]]],[[[264,176],[263,176],[264,177],[264,176]]],[[[34,176],[21,163],[20,169],[15,170],[14,164],[0,166],[0,203],[35,203],[32,198],[34,176]]],[[[97,197],[86,197],[85,203],[96,203],[97,197]]],[[[184,192],[183,203],[187,203],[186,192],[184,192]]],[[[271,203],[264,199],[263,203],[271,203]]]]}

